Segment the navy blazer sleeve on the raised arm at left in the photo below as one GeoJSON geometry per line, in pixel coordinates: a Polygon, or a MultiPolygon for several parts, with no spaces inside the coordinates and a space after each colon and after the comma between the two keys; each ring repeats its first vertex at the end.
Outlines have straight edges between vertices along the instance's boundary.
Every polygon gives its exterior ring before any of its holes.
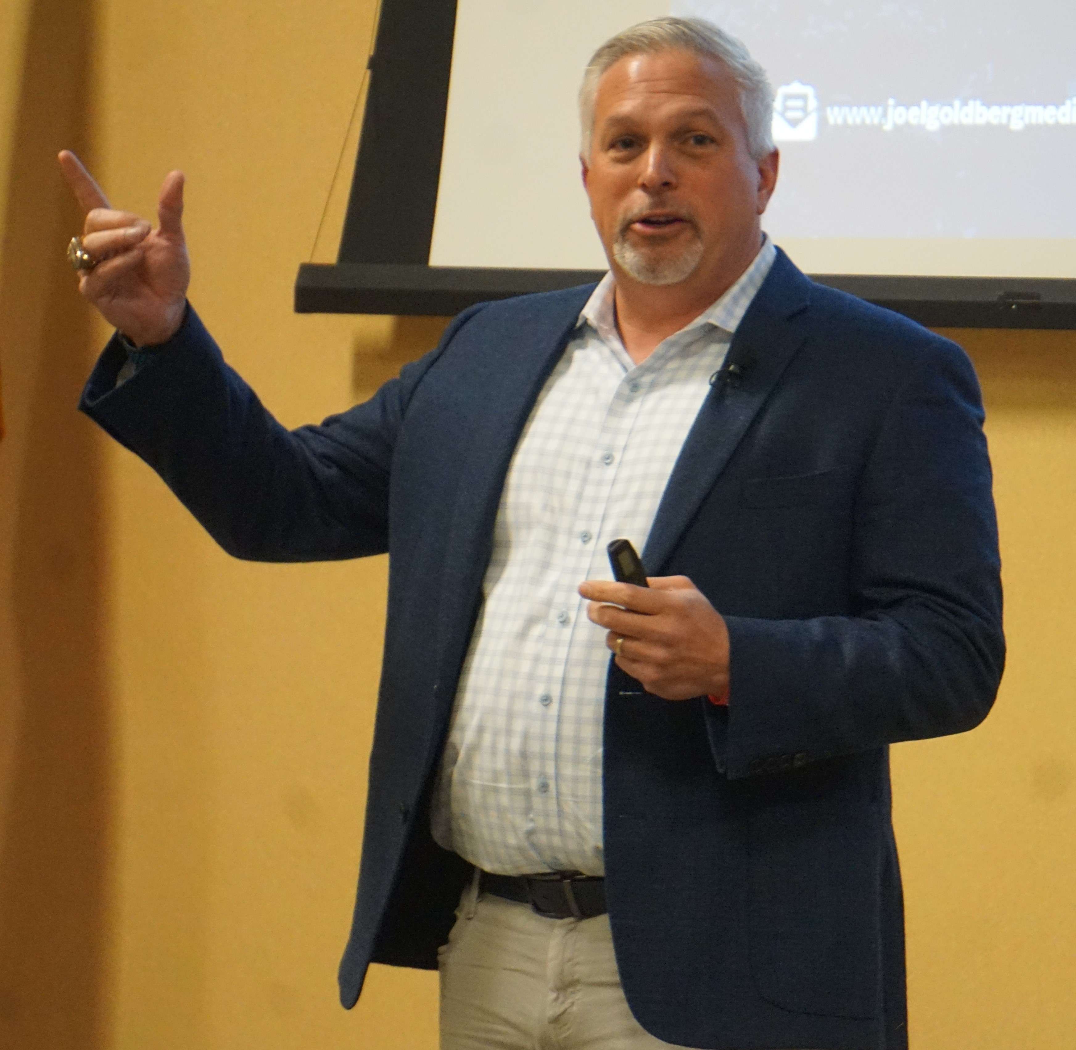
{"type": "Polygon", "coordinates": [[[454,334],[363,405],[287,430],[229,368],[189,307],[176,336],[116,385],[127,360],[105,346],[79,408],[144,459],[239,558],[306,562],[383,553],[388,479],[408,403],[454,334]]]}

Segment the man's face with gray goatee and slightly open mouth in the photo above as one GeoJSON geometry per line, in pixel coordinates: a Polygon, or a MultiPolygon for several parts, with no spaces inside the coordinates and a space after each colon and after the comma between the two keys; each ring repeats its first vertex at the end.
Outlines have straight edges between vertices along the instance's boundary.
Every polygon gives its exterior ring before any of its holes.
{"type": "Polygon", "coordinates": [[[720,62],[681,49],[620,59],[598,81],[582,160],[618,278],[718,295],[758,252],[777,153],[751,158],[738,87],[720,62]]]}

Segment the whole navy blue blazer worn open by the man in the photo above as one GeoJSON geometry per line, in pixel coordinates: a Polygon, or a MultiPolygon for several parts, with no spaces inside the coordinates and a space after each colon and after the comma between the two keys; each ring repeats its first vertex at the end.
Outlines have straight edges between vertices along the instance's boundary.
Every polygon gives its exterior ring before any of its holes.
{"type": "MultiPolygon", "coordinates": [[[[469,867],[428,790],[516,439],[590,287],[484,303],[364,405],[288,431],[188,312],[82,408],[225,550],[391,552],[366,832],[341,998],[436,966],[469,867]]],[[[643,551],[726,618],[732,698],[668,703],[610,665],[605,855],[627,1002],[669,1042],[904,1048],[888,744],[987,714],[1004,641],[982,409],[963,352],[781,254],[643,551]]]]}

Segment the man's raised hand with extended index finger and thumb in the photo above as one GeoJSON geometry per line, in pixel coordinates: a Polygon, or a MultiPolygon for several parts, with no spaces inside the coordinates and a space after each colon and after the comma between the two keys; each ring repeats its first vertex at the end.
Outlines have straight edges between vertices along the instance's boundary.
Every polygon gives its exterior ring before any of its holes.
{"type": "Polygon", "coordinates": [[[170,172],[157,200],[157,229],[109,204],[82,161],[59,155],[68,185],[86,213],[83,250],[95,261],[81,270],[79,290],[139,346],[171,339],[183,322],[190,259],[183,237],[183,173],[170,172]]]}

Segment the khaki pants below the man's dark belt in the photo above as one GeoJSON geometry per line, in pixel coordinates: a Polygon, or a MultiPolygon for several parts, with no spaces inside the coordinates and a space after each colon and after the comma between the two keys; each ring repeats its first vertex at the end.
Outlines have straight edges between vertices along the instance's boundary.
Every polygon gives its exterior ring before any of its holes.
{"type": "Polygon", "coordinates": [[[441,1050],[668,1050],[632,1017],[609,917],[544,919],[492,894],[459,902],[439,951],[441,1050]]]}

